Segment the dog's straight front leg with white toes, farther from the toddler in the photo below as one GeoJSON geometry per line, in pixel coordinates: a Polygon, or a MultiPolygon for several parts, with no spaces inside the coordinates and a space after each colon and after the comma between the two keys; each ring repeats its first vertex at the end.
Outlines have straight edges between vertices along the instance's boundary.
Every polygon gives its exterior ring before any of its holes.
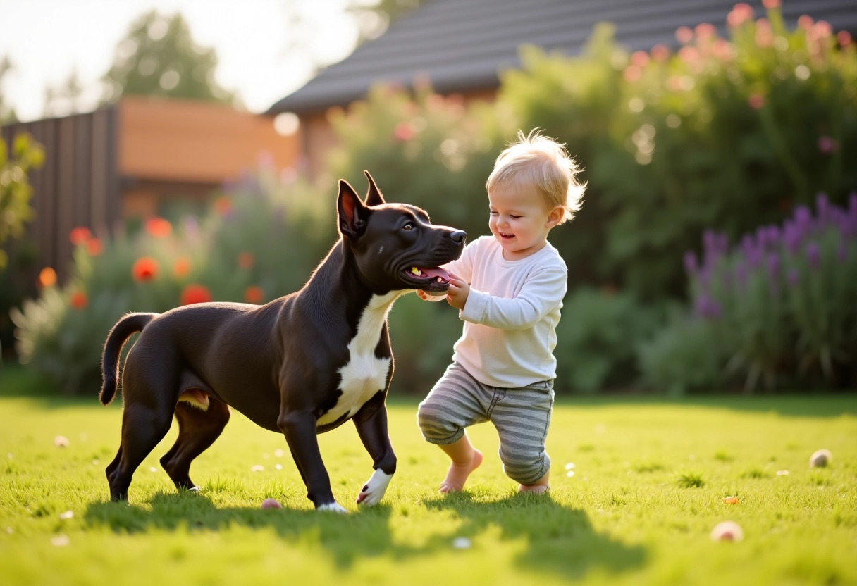
{"type": "Polygon", "coordinates": [[[333,498],[330,476],[321,460],[315,416],[301,411],[280,413],[277,425],[285,435],[291,456],[307,485],[307,498],[319,511],[348,512],[333,498]]]}

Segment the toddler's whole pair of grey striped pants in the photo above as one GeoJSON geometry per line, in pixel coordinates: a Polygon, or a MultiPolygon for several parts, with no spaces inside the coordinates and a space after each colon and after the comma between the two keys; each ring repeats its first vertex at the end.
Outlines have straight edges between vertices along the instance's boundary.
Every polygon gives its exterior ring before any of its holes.
{"type": "Polygon", "coordinates": [[[532,484],[550,469],[544,440],[554,405],[554,383],[504,389],[482,385],[458,362],[452,362],[417,410],[423,438],[432,444],[452,444],[464,428],[492,422],[500,436],[500,461],[513,481],[532,484]]]}

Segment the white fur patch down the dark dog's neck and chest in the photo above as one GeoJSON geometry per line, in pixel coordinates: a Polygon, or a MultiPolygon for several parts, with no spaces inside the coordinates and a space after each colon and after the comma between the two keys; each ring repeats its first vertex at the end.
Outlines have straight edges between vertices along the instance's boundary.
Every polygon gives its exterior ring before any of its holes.
{"type": "Polygon", "coordinates": [[[381,328],[387,320],[387,314],[393,302],[405,291],[392,291],[383,296],[373,296],[369,305],[363,309],[357,335],[348,344],[349,361],[339,368],[342,380],[339,383],[339,395],[333,409],[327,411],[318,420],[318,425],[335,422],[347,414],[354,416],[363,404],[375,396],[376,392],[387,385],[391,360],[375,356],[375,347],[381,338],[381,328]]]}

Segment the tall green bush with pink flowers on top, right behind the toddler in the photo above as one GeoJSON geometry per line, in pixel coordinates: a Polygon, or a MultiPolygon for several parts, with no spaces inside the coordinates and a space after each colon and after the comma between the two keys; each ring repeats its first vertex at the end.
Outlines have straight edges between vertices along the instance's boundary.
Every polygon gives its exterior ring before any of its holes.
{"type": "Polygon", "coordinates": [[[818,191],[841,204],[857,188],[854,45],[808,17],[790,31],[778,8],[754,21],[736,7],[728,21],[728,39],[680,29],[676,54],[629,54],[605,25],[581,57],[529,48],[503,76],[500,107],[584,166],[583,210],[556,235],[576,274],[679,297],[675,251],[702,230],[735,238],[818,191]]]}

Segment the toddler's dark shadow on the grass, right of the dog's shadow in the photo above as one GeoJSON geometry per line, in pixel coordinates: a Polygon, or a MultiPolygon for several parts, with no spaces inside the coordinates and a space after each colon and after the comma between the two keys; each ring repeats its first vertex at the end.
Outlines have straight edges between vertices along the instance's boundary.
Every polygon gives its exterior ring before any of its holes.
{"type": "Polygon", "coordinates": [[[549,493],[516,493],[485,502],[464,492],[427,499],[425,505],[429,510],[455,511],[464,522],[456,536],[474,540],[498,527],[501,539],[524,537],[526,548],[515,562],[530,571],[552,571],[577,579],[593,568],[619,573],[646,561],[644,547],[596,533],[584,511],[560,505],[549,493]]]}

